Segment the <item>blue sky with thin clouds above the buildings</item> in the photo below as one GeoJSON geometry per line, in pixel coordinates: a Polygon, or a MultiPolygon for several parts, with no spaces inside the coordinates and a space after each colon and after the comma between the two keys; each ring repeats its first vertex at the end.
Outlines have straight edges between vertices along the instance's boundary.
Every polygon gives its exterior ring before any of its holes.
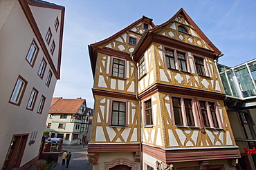
{"type": "Polygon", "coordinates": [[[87,45],[137,21],[143,15],[160,25],[180,8],[224,54],[219,63],[234,67],[256,58],[255,0],[46,0],[64,6],[61,79],[54,97],[86,99],[93,108],[93,77],[87,45]]]}

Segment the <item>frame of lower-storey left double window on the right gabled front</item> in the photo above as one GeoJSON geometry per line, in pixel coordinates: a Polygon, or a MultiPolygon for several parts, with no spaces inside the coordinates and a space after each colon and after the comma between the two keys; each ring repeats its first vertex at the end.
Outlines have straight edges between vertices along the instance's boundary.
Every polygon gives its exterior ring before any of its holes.
{"type": "Polygon", "coordinates": [[[171,107],[171,116],[172,116],[172,124],[176,127],[199,127],[199,116],[196,114],[196,100],[195,98],[188,97],[188,96],[177,96],[177,95],[169,95],[170,98],[170,107],[171,107]],[[175,116],[174,116],[174,105],[173,105],[173,98],[180,98],[180,108],[181,108],[181,121],[183,125],[176,125],[175,123],[175,116]],[[186,113],[186,107],[184,100],[191,100],[191,106],[192,106],[192,116],[194,119],[194,125],[188,125],[188,116],[186,113]]]}

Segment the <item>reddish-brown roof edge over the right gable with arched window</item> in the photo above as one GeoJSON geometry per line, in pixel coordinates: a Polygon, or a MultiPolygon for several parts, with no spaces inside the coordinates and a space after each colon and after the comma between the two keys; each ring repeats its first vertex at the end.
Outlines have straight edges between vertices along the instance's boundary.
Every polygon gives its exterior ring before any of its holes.
{"type": "Polygon", "coordinates": [[[214,50],[214,52],[217,55],[221,54],[219,49],[217,47],[215,47],[215,45],[208,39],[207,36],[205,36],[205,34],[203,34],[201,29],[196,25],[196,23],[194,23],[194,21],[190,18],[190,16],[187,14],[187,12],[185,12],[185,10],[183,10],[183,8],[181,8],[178,12],[176,12],[176,14],[174,14],[174,16],[171,19],[169,19],[165,23],[162,23],[161,25],[157,25],[155,28],[152,28],[151,30],[149,30],[149,32],[154,32],[155,30],[158,30],[159,28],[163,28],[165,25],[167,25],[168,23],[173,21],[175,19],[175,17],[178,16],[178,14],[182,14],[185,17],[186,21],[188,21],[188,23],[190,25],[192,25],[194,30],[196,30],[197,34],[199,34],[199,36],[201,36],[201,39],[203,39],[210,47],[212,47],[212,49],[214,50]]]}

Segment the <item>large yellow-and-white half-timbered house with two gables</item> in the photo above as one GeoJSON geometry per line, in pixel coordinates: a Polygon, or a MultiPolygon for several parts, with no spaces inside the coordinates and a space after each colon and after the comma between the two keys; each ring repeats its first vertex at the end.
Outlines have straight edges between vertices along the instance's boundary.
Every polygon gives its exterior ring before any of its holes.
{"type": "Polygon", "coordinates": [[[89,45],[93,169],[235,169],[240,157],[214,62],[222,54],[181,8],[89,45]]]}

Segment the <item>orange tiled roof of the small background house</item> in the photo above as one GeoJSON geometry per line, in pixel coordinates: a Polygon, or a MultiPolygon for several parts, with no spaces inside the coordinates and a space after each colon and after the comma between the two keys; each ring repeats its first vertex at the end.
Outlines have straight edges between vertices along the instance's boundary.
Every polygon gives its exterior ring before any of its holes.
{"type": "Polygon", "coordinates": [[[84,99],[53,98],[49,114],[76,114],[84,99]]]}

